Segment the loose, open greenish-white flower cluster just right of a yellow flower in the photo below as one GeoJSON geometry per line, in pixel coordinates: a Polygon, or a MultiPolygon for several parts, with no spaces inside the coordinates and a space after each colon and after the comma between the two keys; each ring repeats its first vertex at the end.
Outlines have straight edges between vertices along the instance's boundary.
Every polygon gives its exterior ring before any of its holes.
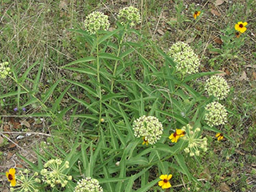
{"type": "Polygon", "coordinates": [[[207,151],[207,138],[202,138],[202,136],[200,136],[201,130],[199,127],[197,127],[195,131],[193,131],[193,127],[188,124],[182,127],[182,129],[186,129],[186,135],[181,139],[188,141],[188,147],[186,147],[184,151],[186,153],[189,153],[189,156],[199,156],[200,148],[204,152],[207,151]]]}

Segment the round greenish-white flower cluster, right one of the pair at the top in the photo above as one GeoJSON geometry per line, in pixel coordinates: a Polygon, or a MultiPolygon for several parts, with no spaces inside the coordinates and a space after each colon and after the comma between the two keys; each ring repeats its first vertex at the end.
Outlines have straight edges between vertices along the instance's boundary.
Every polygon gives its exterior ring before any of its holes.
{"type": "Polygon", "coordinates": [[[129,23],[132,27],[135,26],[135,24],[140,24],[141,22],[140,12],[133,6],[125,7],[120,10],[117,17],[123,26],[129,23]]]}

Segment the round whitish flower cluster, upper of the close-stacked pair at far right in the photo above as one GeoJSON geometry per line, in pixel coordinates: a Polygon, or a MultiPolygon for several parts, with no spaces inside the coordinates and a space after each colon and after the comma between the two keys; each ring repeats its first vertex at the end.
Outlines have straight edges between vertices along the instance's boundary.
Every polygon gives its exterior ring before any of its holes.
{"type": "Polygon", "coordinates": [[[223,77],[212,76],[210,79],[207,79],[205,83],[205,90],[208,95],[213,95],[219,100],[223,100],[228,95],[229,86],[223,77]]]}

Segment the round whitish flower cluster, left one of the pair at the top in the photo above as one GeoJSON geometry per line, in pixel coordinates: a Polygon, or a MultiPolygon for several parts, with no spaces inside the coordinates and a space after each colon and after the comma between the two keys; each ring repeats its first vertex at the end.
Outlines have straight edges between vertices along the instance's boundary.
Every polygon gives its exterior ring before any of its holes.
{"type": "Polygon", "coordinates": [[[95,34],[99,30],[107,31],[109,25],[108,15],[101,12],[92,12],[84,20],[84,27],[90,34],[95,34]]]}

